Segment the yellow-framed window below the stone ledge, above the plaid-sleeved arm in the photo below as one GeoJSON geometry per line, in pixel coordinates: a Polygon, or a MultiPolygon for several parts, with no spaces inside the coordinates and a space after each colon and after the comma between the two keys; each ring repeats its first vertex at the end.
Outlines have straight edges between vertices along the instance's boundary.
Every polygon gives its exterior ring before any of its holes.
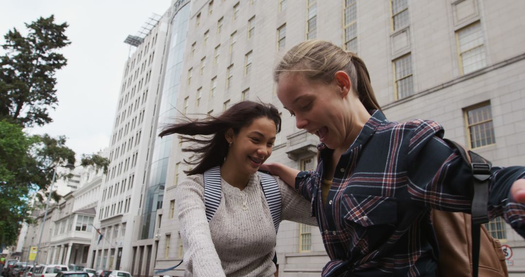
{"type": "Polygon", "coordinates": [[[465,109],[465,121],[471,149],[496,143],[490,102],[465,109]]]}

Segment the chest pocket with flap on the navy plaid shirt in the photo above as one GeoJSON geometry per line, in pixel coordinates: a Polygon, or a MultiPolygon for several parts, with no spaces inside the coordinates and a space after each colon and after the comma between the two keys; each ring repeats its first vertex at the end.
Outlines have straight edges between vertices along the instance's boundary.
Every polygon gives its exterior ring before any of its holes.
{"type": "Polygon", "coordinates": [[[341,201],[342,218],[346,224],[362,227],[395,225],[397,201],[392,197],[344,194],[341,201]]]}

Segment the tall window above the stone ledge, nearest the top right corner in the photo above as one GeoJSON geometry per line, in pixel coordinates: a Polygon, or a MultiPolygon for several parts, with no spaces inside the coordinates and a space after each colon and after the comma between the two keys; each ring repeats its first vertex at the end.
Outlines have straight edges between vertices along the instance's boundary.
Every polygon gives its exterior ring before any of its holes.
{"type": "Polygon", "coordinates": [[[478,21],[456,31],[461,74],[468,74],[487,65],[483,30],[478,21]]]}

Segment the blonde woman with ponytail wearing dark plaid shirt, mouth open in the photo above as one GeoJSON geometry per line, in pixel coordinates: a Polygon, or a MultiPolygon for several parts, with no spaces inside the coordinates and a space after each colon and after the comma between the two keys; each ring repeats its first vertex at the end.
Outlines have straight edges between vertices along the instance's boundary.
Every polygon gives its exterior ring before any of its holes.
{"type": "MultiPolygon", "coordinates": [[[[331,259],[323,276],[434,276],[430,209],[470,212],[472,173],[432,121],[388,121],[364,62],[322,40],[292,47],[275,71],[277,97],[319,136],[315,171],[264,169],[295,187],[317,217],[331,259]]],[[[525,168],[492,167],[490,218],[525,236],[525,168]]],[[[455,276],[454,269],[447,269],[455,276]]]]}

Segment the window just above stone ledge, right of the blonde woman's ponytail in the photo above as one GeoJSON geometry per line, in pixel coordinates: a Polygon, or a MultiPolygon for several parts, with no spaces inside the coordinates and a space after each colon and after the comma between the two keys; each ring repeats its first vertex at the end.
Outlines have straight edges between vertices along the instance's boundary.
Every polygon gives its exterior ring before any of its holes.
{"type": "Polygon", "coordinates": [[[393,61],[394,64],[394,90],[396,100],[403,99],[414,93],[412,83],[412,56],[407,54],[393,61]]]}

